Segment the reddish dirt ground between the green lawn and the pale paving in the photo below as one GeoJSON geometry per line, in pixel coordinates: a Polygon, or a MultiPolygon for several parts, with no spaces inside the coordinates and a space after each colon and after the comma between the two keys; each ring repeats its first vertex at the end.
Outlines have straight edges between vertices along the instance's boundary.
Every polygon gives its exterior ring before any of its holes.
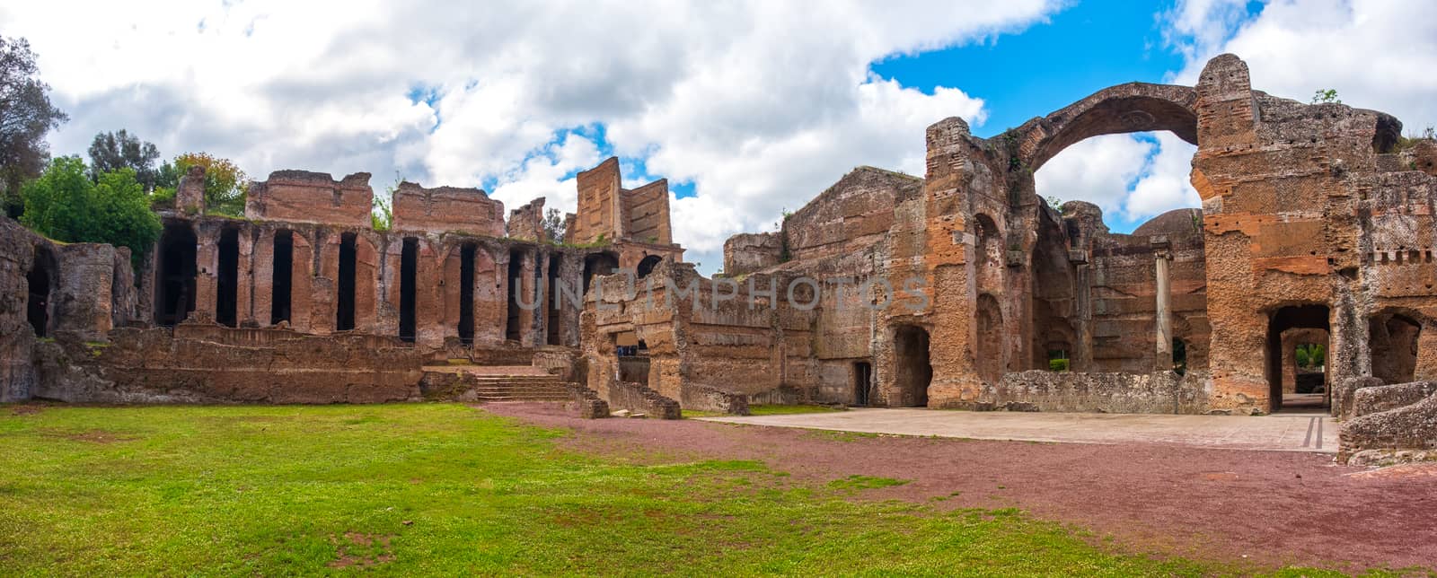
{"type": "Polygon", "coordinates": [[[575,431],[569,449],[635,463],[752,459],[798,479],[912,480],[865,499],[1020,508],[1112,535],[1127,552],[1262,565],[1437,568],[1437,464],[1369,470],[1331,456],[1167,444],[855,434],[694,420],[579,420],[556,405],[484,410],[575,431]]]}

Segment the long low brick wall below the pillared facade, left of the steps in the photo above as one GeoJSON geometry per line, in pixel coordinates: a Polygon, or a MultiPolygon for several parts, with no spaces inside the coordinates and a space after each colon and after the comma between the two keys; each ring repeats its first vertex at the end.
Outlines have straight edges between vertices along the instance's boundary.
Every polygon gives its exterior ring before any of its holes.
{"type": "Polygon", "coordinates": [[[267,347],[115,329],[109,342],[36,345],[34,397],[69,403],[331,404],[417,401],[412,348],[371,348],[358,335],[299,336],[267,347]]]}

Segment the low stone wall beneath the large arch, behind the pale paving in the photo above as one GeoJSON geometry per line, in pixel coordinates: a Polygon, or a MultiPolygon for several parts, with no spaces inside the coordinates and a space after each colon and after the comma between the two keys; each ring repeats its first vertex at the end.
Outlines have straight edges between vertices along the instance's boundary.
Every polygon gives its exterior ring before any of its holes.
{"type": "Polygon", "coordinates": [[[1096,411],[1125,414],[1200,414],[1207,411],[1207,374],[1089,374],[1023,371],[984,387],[969,410],[1096,411]]]}

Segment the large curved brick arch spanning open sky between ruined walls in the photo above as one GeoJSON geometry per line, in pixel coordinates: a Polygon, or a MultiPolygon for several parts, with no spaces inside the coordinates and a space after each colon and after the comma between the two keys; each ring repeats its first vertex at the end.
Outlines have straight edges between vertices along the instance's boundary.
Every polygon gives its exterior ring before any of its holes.
{"type": "Polygon", "coordinates": [[[1022,165],[1036,171],[1085,138],[1147,131],[1170,131],[1197,144],[1197,89],[1191,86],[1129,82],[1094,92],[1058,112],[1017,128],[1022,165]]]}

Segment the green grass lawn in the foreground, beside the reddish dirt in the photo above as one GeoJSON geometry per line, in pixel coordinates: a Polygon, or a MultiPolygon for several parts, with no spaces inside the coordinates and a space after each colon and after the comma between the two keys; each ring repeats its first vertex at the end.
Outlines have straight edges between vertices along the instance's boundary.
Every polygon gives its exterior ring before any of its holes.
{"type": "Polygon", "coordinates": [[[0,405],[0,575],[1233,571],[862,499],[901,479],[609,464],[464,405],[17,410],[0,405]]]}

